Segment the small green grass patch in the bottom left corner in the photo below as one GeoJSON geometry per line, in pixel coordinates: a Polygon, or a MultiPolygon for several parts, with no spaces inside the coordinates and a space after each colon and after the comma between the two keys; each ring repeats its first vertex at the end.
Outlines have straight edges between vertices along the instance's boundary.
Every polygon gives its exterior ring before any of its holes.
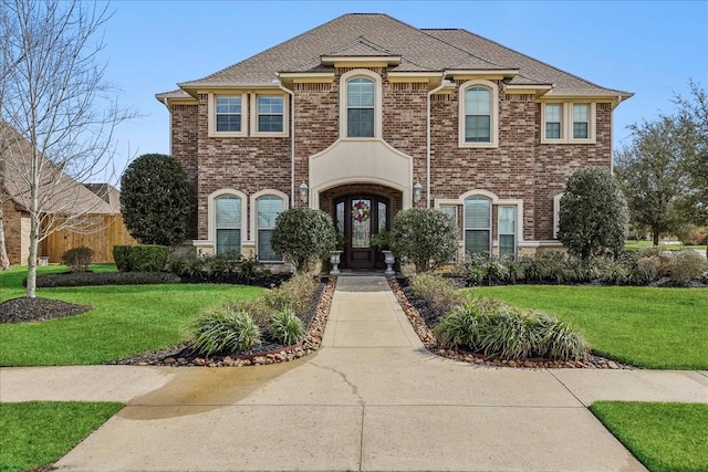
{"type": "Polygon", "coordinates": [[[0,470],[51,464],[121,408],[121,403],[92,402],[0,403],[0,470]]]}

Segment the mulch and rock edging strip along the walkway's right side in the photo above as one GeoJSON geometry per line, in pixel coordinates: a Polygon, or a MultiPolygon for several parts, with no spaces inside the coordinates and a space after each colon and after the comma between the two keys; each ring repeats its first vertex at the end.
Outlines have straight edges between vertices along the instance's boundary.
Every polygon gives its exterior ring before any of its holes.
{"type": "Polygon", "coordinates": [[[590,368],[590,369],[634,369],[635,367],[620,364],[615,360],[605,359],[604,357],[591,355],[584,360],[549,360],[549,359],[487,359],[481,354],[469,353],[465,350],[442,349],[438,346],[438,340],[433,334],[435,327],[441,319],[442,314],[430,308],[430,306],[420,297],[416,296],[408,286],[405,279],[388,277],[388,285],[396,295],[398,303],[403,307],[404,313],[413,325],[420,342],[433,354],[447,357],[455,360],[461,360],[469,364],[490,367],[525,367],[525,368],[590,368]]]}

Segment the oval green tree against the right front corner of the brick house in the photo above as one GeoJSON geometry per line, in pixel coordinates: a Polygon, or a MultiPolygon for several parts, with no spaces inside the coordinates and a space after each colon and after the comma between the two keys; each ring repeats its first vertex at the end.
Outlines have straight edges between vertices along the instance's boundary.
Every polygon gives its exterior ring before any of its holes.
{"type": "Polygon", "coordinates": [[[624,248],[629,214],[615,177],[598,167],[586,167],[565,185],[559,211],[558,239],[568,252],[587,263],[607,251],[624,248]]]}

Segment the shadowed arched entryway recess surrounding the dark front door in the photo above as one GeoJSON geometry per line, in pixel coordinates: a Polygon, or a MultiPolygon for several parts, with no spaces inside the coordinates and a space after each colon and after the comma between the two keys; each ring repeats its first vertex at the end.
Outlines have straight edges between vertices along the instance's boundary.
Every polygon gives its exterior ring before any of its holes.
{"type": "Polygon", "coordinates": [[[394,214],[400,211],[402,192],[378,185],[345,185],[320,195],[320,208],[332,216],[345,245],[342,269],[385,269],[383,255],[372,247],[371,238],[389,230],[394,214]]]}

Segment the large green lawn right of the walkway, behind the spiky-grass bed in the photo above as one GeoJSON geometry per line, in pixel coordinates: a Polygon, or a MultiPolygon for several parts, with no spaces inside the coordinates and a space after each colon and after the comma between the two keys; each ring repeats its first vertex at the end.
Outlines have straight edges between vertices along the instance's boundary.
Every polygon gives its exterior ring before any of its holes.
{"type": "Polygon", "coordinates": [[[593,352],[652,369],[708,368],[708,291],[636,286],[513,285],[475,289],[573,323],[593,352]]]}

